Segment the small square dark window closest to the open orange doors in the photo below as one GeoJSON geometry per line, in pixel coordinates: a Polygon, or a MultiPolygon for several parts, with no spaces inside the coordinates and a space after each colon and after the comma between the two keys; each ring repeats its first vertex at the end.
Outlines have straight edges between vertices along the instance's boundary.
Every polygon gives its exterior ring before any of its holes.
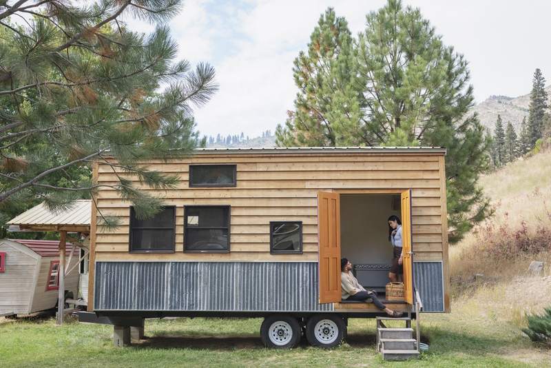
{"type": "Polygon", "coordinates": [[[302,222],[272,221],[270,223],[270,253],[302,253],[302,222]]]}

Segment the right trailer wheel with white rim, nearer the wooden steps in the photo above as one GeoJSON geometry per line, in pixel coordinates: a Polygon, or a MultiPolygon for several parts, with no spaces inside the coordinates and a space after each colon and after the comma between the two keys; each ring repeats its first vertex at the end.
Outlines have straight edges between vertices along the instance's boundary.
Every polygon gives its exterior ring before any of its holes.
{"type": "Polygon", "coordinates": [[[306,338],[312,346],[330,349],[342,343],[346,323],[336,314],[315,314],[306,323],[306,338]]]}

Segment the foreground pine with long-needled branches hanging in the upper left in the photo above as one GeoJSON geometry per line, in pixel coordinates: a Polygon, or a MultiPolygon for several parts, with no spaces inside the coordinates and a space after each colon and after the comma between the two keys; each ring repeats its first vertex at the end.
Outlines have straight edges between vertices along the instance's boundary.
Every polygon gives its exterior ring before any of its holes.
{"type": "MultiPolygon", "coordinates": [[[[61,209],[90,196],[99,186],[90,177],[93,161],[134,173],[154,187],[176,184],[176,176],[136,161],[202,144],[191,110],[215,92],[214,69],[199,64],[191,70],[187,61],[175,60],[176,43],[163,24],[180,5],[179,0],[0,3],[2,208],[40,198],[61,209]],[[156,29],[149,35],[131,32],[121,21],[130,15],[156,29]],[[73,176],[79,170],[82,180],[73,176]],[[52,184],[54,177],[59,180],[52,184]]],[[[142,216],[160,209],[158,198],[123,177],[111,186],[142,216]]],[[[116,225],[102,218],[103,225],[116,225]]]]}

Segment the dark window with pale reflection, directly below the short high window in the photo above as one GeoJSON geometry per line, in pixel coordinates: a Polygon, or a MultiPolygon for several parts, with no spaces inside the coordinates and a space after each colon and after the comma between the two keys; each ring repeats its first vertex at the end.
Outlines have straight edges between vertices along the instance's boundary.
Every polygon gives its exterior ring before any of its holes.
{"type": "Polygon", "coordinates": [[[184,252],[229,252],[229,206],[186,206],[184,252]]]}

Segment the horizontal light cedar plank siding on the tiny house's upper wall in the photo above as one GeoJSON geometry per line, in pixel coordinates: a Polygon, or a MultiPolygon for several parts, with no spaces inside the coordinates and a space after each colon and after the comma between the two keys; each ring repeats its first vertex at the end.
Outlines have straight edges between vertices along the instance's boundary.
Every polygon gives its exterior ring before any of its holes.
{"type": "MultiPolygon", "coordinates": [[[[121,226],[98,228],[96,260],[318,260],[318,191],[412,188],[415,260],[441,260],[441,154],[201,154],[192,158],[149,161],[150,170],[180,178],[171,190],[152,190],[133,174],[119,175],[150,194],[176,205],[174,254],[128,254],[129,203],[112,187],[98,191],[98,209],[118,216],[121,226]],[[189,163],[236,164],[237,186],[189,188],[189,163]],[[231,252],[184,254],[183,206],[231,205],[231,252]],[[302,221],[304,254],[269,254],[270,221],[302,221]]],[[[121,174],[122,173],[122,174],[121,174]]],[[[109,165],[98,167],[98,182],[115,185],[109,165]]]]}

